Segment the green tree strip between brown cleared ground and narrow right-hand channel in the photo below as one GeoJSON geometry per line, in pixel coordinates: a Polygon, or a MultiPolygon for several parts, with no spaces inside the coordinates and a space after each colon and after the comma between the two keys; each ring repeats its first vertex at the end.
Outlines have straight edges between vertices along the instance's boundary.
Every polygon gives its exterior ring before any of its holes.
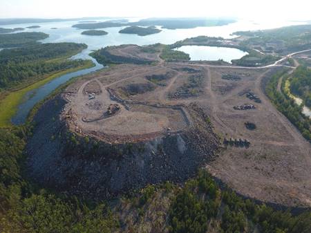
{"type": "MultiPolygon", "coordinates": [[[[300,71],[298,71],[300,73],[300,71]]],[[[285,78],[282,82],[282,93],[277,90],[279,78],[285,75],[284,72],[276,73],[267,83],[265,91],[276,106],[276,108],[283,113],[294,126],[299,129],[302,136],[311,142],[311,120],[301,113],[301,106],[297,105],[294,100],[288,95],[285,90],[285,78]]]]}

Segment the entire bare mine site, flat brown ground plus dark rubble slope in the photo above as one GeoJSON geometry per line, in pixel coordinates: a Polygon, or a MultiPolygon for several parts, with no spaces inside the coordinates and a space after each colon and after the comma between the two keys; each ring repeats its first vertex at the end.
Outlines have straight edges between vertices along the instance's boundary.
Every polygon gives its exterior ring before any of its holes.
{"type": "Polygon", "coordinates": [[[29,149],[43,134],[64,127],[66,142],[70,135],[77,142],[69,148],[61,140],[42,142],[30,160],[39,183],[110,197],[148,183],[181,182],[203,166],[243,196],[276,205],[311,204],[310,143],[263,88],[281,62],[258,68],[165,62],[160,45],[146,50],[109,48],[105,55],[122,64],[85,75],[65,88],[57,106],[43,106],[29,149]],[[58,119],[53,127],[42,120],[46,115],[58,119]],[[84,145],[86,138],[96,141],[96,150],[84,145]]]}

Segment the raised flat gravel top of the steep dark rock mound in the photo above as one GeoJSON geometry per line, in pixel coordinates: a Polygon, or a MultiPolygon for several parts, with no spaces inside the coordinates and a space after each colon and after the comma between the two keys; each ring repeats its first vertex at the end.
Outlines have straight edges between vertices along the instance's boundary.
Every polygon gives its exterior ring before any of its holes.
{"type": "MultiPolygon", "coordinates": [[[[125,84],[130,95],[154,91],[153,84],[125,84]]],[[[170,106],[124,100],[111,85],[100,80],[84,82],[75,93],[65,94],[63,117],[76,133],[90,134],[113,142],[133,141],[134,138],[164,136],[187,129],[191,120],[183,106],[170,106]],[[109,111],[110,106],[117,111],[109,111]]]]}

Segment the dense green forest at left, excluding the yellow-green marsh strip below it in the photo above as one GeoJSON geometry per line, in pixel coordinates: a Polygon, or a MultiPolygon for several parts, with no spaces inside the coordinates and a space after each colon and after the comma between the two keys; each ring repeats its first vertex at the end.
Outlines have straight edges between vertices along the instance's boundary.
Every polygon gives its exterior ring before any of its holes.
{"type": "Polygon", "coordinates": [[[48,73],[81,66],[82,60],[65,59],[86,48],[85,44],[38,44],[0,51],[0,90],[39,80],[48,73]]]}

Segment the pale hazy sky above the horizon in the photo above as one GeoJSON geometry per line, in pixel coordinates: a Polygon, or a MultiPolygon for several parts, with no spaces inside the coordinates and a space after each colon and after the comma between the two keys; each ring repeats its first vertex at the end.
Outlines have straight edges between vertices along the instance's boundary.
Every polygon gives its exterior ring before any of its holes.
{"type": "Polygon", "coordinates": [[[0,0],[12,17],[240,17],[311,19],[310,0],[0,0]]]}

